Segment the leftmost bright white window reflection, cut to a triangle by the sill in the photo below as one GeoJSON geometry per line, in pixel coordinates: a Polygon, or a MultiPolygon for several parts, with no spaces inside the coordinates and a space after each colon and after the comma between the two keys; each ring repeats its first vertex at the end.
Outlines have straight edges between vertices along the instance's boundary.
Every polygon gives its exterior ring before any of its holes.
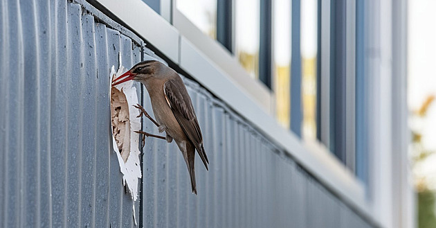
{"type": "Polygon", "coordinates": [[[177,9],[195,26],[217,38],[217,0],[177,0],[177,9]]]}

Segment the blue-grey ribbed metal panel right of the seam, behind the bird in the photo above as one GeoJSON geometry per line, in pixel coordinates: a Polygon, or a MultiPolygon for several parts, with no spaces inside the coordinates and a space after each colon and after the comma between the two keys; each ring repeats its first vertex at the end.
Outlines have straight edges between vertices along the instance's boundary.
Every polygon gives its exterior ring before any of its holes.
{"type": "MultiPolygon", "coordinates": [[[[203,132],[210,170],[196,156],[198,195],[193,195],[176,143],[147,138],[144,227],[336,228],[343,224],[340,216],[349,209],[340,208],[329,191],[206,89],[183,80],[203,132]]],[[[152,114],[145,88],[143,100],[152,114]]],[[[143,126],[159,134],[147,119],[143,126]]]]}

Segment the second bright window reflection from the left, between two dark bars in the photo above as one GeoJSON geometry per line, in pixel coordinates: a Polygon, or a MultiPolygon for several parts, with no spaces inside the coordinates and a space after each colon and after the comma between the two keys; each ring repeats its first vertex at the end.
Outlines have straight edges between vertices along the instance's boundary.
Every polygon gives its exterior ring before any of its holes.
{"type": "Polygon", "coordinates": [[[259,77],[259,0],[235,0],[235,53],[251,77],[259,77]]]}

